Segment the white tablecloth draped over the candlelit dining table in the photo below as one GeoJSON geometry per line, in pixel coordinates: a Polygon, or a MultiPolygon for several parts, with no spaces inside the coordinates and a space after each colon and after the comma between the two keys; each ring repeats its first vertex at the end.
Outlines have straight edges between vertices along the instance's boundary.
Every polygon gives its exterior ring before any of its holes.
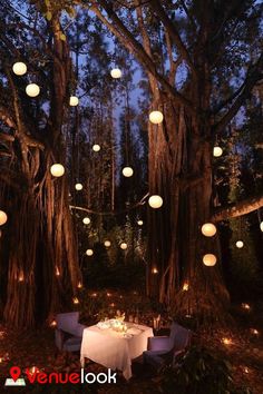
{"type": "Polygon", "coordinates": [[[139,324],[126,323],[127,334],[117,333],[113,328],[100,329],[91,326],[84,329],[80,349],[80,363],[85,357],[110,370],[123,371],[124,377],[132,377],[132,359],[147,349],[148,337],[153,329],[139,324]]]}

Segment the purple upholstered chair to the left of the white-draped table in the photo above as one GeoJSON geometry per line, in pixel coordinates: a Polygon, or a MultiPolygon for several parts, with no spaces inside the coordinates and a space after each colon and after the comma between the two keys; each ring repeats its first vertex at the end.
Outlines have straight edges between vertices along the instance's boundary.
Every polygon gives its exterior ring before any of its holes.
{"type": "Polygon", "coordinates": [[[78,323],[79,312],[61,313],[56,316],[57,329],[55,332],[55,342],[61,352],[80,351],[84,328],[78,323]]]}

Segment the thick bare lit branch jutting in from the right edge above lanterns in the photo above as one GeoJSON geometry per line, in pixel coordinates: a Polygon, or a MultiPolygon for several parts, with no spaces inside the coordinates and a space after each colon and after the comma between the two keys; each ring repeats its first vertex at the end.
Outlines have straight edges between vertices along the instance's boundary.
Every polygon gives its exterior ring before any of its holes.
{"type": "Polygon", "coordinates": [[[212,216],[212,221],[227,220],[232,217],[247,215],[263,207],[263,196],[250,197],[243,201],[232,204],[227,207],[217,209],[212,216]]]}

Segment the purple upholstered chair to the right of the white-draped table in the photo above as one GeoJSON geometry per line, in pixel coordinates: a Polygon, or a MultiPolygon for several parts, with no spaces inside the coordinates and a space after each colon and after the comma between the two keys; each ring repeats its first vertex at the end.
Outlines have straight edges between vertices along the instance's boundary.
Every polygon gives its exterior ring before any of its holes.
{"type": "Polygon", "coordinates": [[[149,349],[144,352],[144,363],[159,370],[166,363],[175,363],[191,343],[189,329],[172,323],[169,336],[154,336],[148,338],[149,349]]]}

